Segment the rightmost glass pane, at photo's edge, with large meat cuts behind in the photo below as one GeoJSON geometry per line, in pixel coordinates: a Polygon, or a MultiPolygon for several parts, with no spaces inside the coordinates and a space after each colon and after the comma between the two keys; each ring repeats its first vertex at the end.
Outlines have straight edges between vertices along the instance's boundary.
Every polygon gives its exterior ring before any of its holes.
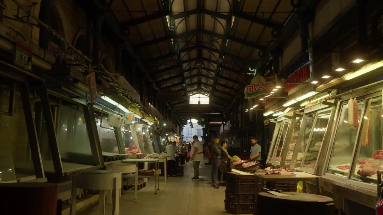
{"type": "Polygon", "coordinates": [[[376,184],[376,170],[383,169],[382,96],[367,98],[366,103],[350,179],[376,184]]]}

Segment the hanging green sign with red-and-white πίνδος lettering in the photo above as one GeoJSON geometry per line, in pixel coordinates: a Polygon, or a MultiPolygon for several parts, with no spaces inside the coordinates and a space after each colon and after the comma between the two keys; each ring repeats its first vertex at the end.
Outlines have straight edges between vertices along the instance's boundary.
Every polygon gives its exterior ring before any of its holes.
{"type": "Polygon", "coordinates": [[[251,80],[250,85],[245,87],[245,98],[250,99],[259,96],[260,94],[267,94],[273,90],[273,83],[267,82],[266,79],[260,75],[255,75],[251,80]]]}

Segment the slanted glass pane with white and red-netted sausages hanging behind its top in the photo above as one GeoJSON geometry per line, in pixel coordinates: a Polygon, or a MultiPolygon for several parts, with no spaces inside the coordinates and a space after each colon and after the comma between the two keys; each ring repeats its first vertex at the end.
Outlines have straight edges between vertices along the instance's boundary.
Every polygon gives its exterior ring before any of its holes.
{"type": "MultiPolygon", "coordinates": [[[[353,112],[354,116],[360,119],[362,109],[364,108],[365,99],[357,98],[358,111],[353,112]]],[[[356,126],[349,123],[349,104],[348,101],[340,103],[339,117],[336,125],[336,130],[332,135],[335,135],[331,155],[329,156],[329,165],[327,173],[335,174],[347,178],[349,173],[350,163],[352,162],[352,154],[354,151],[355,140],[357,137],[358,123],[356,126]]],[[[356,121],[356,119],[354,120],[356,121]]],[[[359,121],[359,120],[358,120],[359,121]]]]}

